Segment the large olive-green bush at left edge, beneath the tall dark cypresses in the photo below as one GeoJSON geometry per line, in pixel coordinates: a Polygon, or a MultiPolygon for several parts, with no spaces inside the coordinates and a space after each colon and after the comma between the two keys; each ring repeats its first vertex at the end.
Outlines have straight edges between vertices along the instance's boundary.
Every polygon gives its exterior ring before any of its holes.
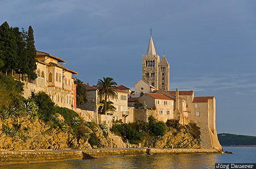
{"type": "Polygon", "coordinates": [[[19,107],[22,97],[23,83],[13,77],[0,73],[0,109],[19,107]]]}

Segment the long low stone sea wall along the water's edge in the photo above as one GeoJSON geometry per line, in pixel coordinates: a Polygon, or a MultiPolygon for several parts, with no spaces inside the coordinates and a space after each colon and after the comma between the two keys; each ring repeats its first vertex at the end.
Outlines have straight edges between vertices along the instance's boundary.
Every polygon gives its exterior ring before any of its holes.
{"type": "Polygon", "coordinates": [[[86,150],[0,150],[0,166],[46,162],[49,160],[102,158],[108,156],[136,156],[150,154],[222,154],[215,149],[151,149],[151,148],[119,148],[119,149],[86,149],[86,150]]]}

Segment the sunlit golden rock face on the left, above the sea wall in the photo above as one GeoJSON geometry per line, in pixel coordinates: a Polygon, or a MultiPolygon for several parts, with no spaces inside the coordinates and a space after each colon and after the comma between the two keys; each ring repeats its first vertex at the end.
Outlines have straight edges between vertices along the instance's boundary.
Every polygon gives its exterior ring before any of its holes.
{"type": "MultiPolygon", "coordinates": [[[[61,118],[61,116],[60,116],[61,118]]],[[[83,128],[88,134],[95,134],[100,147],[126,147],[121,137],[108,137],[98,125],[92,129],[83,128]]],[[[0,121],[0,149],[39,150],[39,149],[92,149],[88,142],[90,135],[76,137],[71,129],[52,128],[42,120],[31,120],[28,117],[0,121]]]]}

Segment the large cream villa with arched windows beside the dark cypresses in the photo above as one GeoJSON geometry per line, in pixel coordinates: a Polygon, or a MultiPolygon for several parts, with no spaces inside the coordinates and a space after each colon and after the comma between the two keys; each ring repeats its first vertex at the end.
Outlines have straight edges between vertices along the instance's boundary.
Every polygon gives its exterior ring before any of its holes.
{"type": "Polygon", "coordinates": [[[65,63],[61,58],[36,51],[37,69],[35,71],[38,78],[28,82],[27,77],[25,77],[24,97],[29,98],[31,91],[44,91],[60,107],[75,109],[76,86],[74,84],[75,78],[72,75],[78,73],[62,66],[65,63]]]}

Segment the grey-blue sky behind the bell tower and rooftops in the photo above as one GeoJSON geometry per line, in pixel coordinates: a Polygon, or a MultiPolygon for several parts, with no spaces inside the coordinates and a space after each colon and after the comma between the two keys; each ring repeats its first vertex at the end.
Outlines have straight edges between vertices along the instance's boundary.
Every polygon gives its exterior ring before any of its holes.
{"type": "Polygon", "coordinates": [[[90,84],[142,78],[149,29],[172,90],[215,96],[218,133],[256,136],[256,1],[7,1],[0,24],[32,26],[36,49],[90,84]]]}

